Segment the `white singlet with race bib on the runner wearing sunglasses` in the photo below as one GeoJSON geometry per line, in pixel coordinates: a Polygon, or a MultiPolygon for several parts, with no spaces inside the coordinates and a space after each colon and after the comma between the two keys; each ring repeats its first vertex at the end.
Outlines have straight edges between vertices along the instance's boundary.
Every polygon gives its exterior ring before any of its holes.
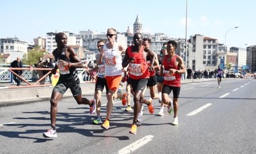
{"type": "Polygon", "coordinates": [[[114,43],[113,49],[106,48],[106,44],[104,44],[103,51],[105,58],[105,76],[121,76],[123,72],[122,56],[117,42],[114,43]]]}

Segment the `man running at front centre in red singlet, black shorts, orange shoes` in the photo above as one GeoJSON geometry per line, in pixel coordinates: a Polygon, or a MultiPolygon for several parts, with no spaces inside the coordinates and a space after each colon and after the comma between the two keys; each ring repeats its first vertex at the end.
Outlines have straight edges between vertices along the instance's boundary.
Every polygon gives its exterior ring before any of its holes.
{"type": "MultiPolygon", "coordinates": [[[[144,48],[142,46],[143,36],[141,33],[135,33],[133,35],[133,45],[129,46],[125,51],[125,57],[123,58],[123,68],[128,66],[129,64],[129,80],[131,83],[131,87],[133,88],[134,95],[134,115],[133,115],[133,124],[131,125],[130,133],[137,133],[137,117],[140,111],[140,102],[148,105],[148,109],[152,114],[154,112],[154,107],[151,102],[145,100],[143,98],[142,92],[144,88],[146,88],[148,78],[150,77],[150,73],[148,71],[148,64],[146,62],[146,52],[152,56],[152,61],[155,60],[155,54],[151,50],[148,51],[148,48],[144,48]],[[146,50],[146,52],[143,52],[146,50]]],[[[151,65],[150,69],[154,66],[151,65]]]]}

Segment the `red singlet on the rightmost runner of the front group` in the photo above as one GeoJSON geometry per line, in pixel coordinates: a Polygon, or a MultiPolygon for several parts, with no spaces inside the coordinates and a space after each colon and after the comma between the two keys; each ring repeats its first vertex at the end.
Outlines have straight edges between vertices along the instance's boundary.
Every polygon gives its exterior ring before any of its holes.
{"type": "Polygon", "coordinates": [[[177,59],[177,55],[174,55],[172,60],[170,61],[170,63],[167,62],[168,58],[170,55],[166,55],[166,57],[164,58],[164,85],[168,85],[168,86],[176,86],[176,87],[180,87],[181,86],[181,75],[178,73],[173,73],[170,74],[169,69],[173,68],[175,70],[180,70],[179,66],[175,66],[175,62],[177,59]]]}

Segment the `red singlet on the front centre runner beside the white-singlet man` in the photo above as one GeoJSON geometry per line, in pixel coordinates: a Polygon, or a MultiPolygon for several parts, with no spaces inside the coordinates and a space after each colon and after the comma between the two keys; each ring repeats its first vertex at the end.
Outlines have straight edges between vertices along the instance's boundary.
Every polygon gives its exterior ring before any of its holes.
{"type": "Polygon", "coordinates": [[[139,52],[131,52],[132,46],[127,48],[129,57],[133,57],[135,62],[129,64],[129,78],[139,80],[141,78],[150,78],[150,72],[148,71],[148,64],[143,58],[144,46],[142,46],[139,52]]]}

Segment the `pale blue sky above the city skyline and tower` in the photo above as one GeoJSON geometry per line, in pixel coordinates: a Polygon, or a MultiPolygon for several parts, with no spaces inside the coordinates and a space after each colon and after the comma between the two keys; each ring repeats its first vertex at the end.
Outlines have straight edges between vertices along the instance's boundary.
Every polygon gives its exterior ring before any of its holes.
{"type": "Polygon", "coordinates": [[[106,33],[108,27],[125,32],[139,15],[145,33],[185,38],[187,27],[187,39],[201,34],[229,47],[256,45],[255,0],[0,0],[0,5],[0,38],[33,42],[48,32],[106,33]]]}

